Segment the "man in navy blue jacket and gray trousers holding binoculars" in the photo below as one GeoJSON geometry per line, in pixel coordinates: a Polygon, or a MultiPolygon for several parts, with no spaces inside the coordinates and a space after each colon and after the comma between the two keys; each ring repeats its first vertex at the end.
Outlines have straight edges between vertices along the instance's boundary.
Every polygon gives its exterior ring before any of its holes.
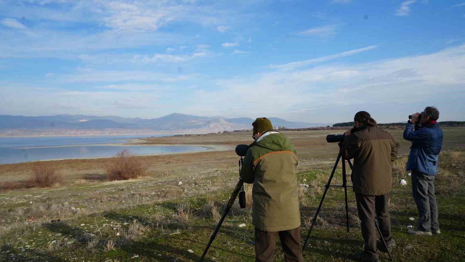
{"type": "Polygon", "coordinates": [[[421,114],[412,114],[404,131],[404,139],[412,142],[406,169],[412,171],[413,199],[417,204],[418,228],[408,234],[440,234],[438,203],[434,195],[434,178],[438,172],[438,156],[443,132],[439,128],[439,111],[428,106],[421,114]]]}

